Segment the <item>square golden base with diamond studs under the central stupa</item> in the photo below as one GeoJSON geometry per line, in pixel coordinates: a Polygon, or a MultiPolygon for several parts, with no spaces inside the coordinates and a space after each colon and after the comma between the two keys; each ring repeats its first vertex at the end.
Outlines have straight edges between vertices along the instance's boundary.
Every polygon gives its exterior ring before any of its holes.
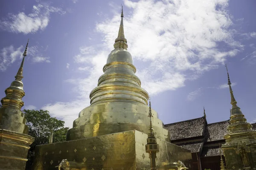
{"type": "MultiPolygon", "coordinates": [[[[83,164],[86,170],[150,169],[149,155],[145,152],[147,137],[145,133],[131,130],[39,145],[35,150],[33,170],[56,170],[63,159],[83,164]]],[[[160,145],[157,153],[158,170],[175,169],[169,165],[177,161],[191,167],[189,150],[160,139],[157,139],[157,143],[160,145]]]]}

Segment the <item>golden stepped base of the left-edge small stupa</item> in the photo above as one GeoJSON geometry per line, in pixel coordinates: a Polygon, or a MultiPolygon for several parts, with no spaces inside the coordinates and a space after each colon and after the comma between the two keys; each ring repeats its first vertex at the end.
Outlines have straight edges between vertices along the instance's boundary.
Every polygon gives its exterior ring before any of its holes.
{"type": "Polygon", "coordinates": [[[0,170],[24,170],[32,136],[0,129],[0,170]]]}

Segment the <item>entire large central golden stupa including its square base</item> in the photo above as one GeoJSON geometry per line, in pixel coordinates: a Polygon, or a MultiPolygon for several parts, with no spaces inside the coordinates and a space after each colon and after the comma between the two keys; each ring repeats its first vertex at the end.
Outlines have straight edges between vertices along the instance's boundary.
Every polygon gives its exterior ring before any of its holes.
{"type": "Polygon", "coordinates": [[[114,50],[108,55],[98,86],[90,93],[91,105],[79,113],[66,142],[36,147],[34,170],[136,170],[154,166],[160,170],[192,166],[191,152],[170,143],[169,131],[163,128],[156,111],[150,108],[148,114],[148,93],[140,87],[127,48],[122,11],[114,50]]]}

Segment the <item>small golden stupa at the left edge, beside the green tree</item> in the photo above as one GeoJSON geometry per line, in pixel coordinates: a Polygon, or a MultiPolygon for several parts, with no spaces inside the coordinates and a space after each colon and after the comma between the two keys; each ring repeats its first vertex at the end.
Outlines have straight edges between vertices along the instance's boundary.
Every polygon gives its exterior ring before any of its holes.
{"type": "Polygon", "coordinates": [[[27,135],[28,126],[24,114],[20,108],[24,105],[23,91],[23,65],[26,51],[20,68],[9,88],[6,88],[6,96],[1,100],[0,108],[0,170],[24,170],[27,161],[29,145],[34,138],[27,135]]]}

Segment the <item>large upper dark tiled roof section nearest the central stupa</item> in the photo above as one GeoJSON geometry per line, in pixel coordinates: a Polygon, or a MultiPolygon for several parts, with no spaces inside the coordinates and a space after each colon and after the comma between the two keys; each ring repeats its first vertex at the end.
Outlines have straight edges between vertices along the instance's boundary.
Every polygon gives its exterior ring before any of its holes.
{"type": "Polygon", "coordinates": [[[202,136],[204,131],[204,121],[205,118],[197,118],[186,120],[183,122],[176,122],[164,125],[165,129],[170,132],[170,139],[185,139],[197,136],[202,136]]]}

